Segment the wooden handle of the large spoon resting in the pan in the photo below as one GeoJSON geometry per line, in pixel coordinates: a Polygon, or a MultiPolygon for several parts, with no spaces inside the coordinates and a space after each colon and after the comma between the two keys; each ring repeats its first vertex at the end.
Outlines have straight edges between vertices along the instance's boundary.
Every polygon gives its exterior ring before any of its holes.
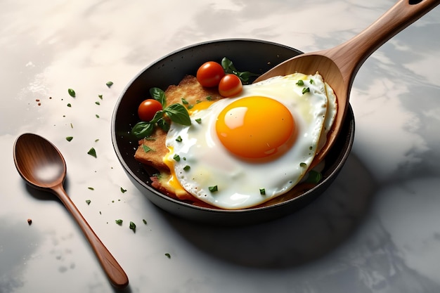
{"type": "Polygon", "coordinates": [[[335,60],[346,80],[354,79],[371,53],[439,4],[440,0],[400,0],[356,37],[329,49],[326,55],[335,60]]]}

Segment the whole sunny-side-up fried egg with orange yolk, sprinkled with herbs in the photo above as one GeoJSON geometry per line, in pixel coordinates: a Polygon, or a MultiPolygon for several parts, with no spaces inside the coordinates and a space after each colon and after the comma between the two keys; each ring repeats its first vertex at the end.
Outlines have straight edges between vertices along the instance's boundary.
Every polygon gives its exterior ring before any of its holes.
{"type": "Polygon", "coordinates": [[[272,77],[233,98],[198,103],[192,124],[172,123],[167,134],[169,184],[221,209],[271,200],[302,180],[336,111],[318,73],[272,77]]]}

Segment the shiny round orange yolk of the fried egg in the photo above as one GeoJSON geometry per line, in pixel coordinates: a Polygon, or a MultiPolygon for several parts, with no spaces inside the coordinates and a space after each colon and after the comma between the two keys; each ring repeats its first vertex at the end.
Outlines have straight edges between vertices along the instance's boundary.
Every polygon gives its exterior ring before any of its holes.
{"type": "Polygon", "coordinates": [[[250,96],[235,100],[220,112],[216,133],[234,155],[261,159],[290,148],[297,131],[285,105],[273,98],[250,96]]]}

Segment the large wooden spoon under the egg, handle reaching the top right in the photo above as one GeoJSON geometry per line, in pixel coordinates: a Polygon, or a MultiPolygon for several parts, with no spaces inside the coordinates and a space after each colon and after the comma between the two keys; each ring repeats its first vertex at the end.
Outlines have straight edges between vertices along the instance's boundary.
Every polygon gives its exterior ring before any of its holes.
{"type": "Polygon", "coordinates": [[[305,53],[286,60],[255,80],[255,82],[259,82],[269,77],[295,72],[304,74],[319,72],[325,82],[335,91],[338,103],[337,116],[328,133],[327,143],[313,159],[313,166],[325,157],[342,128],[342,122],[349,106],[351,85],[359,67],[382,44],[439,4],[440,0],[398,1],[370,27],[349,41],[334,48],[305,53]]]}

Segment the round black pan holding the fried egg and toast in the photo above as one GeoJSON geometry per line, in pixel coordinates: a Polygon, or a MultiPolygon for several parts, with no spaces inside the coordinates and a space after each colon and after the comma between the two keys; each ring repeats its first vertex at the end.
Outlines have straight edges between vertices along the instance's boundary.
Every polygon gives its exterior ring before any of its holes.
{"type": "Polygon", "coordinates": [[[179,84],[186,74],[195,75],[198,67],[206,61],[220,62],[226,56],[233,61],[238,70],[264,73],[271,67],[301,53],[295,48],[268,41],[221,39],[181,48],[142,70],[122,91],[115,105],[111,126],[116,155],[136,188],[157,207],[171,214],[221,226],[246,225],[276,219],[304,207],[321,195],[335,180],[349,156],[354,140],[354,115],[351,107],[342,131],[325,159],[323,181],[298,197],[266,207],[240,210],[211,209],[197,207],[163,195],[150,185],[150,176],[157,171],[143,166],[134,159],[138,143],[136,138],[130,135],[131,127],[138,122],[138,105],[149,97],[150,88],[159,87],[165,90],[171,84],[179,84]]]}

